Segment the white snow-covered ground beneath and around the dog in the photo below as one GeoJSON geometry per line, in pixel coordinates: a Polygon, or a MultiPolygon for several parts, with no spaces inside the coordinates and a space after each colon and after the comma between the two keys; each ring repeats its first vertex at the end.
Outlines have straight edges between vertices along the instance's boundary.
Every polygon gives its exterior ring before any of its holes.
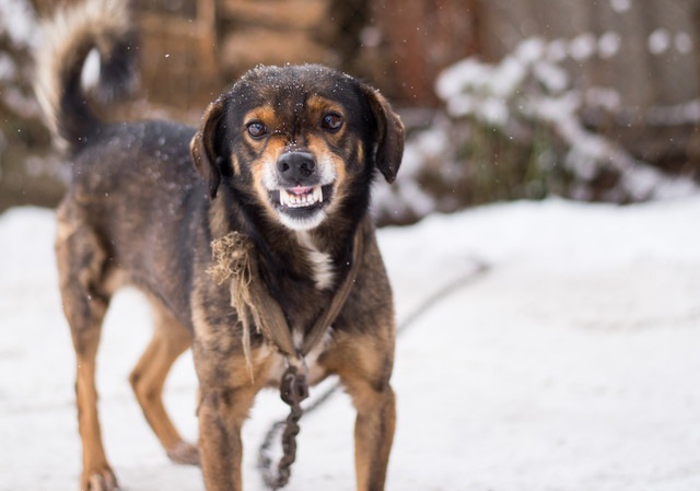
{"type": "MultiPolygon", "coordinates": [[[[431,292],[491,268],[410,326],[395,372],[389,491],[700,489],[700,198],[626,208],[495,204],[381,231],[399,320],[431,292]]],[[[75,490],[73,354],[60,311],[50,211],[0,215],[0,490],[75,490]]],[[[126,377],[149,338],[135,291],[105,325],[100,386],[108,456],[128,491],[201,490],[172,465],[126,377]]],[[[166,402],[196,439],[184,356],[166,402]]],[[[245,481],[285,413],[259,397],[245,481]]],[[[354,489],[342,394],[302,419],[289,490],[354,489]]]]}

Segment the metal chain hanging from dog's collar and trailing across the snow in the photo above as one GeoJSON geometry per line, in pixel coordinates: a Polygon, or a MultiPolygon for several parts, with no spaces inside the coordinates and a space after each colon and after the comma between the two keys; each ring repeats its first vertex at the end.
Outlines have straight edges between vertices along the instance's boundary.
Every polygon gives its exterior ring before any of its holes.
{"type": "MultiPolygon", "coordinates": [[[[456,290],[464,288],[466,284],[483,276],[483,273],[490,270],[490,266],[483,261],[477,260],[476,265],[476,270],[457,277],[425,297],[420,305],[418,305],[418,307],[407,315],[399,324],[396,328],[397,334],[400,335],[404,332],[438,302],[445,299],[456,290]]],[[[267,486],[268,489],[278,490],[285,487],[289,482],[291,466],[296,458],[296,435],[300,431],[299,420],[302,414],[304,412],[310,413],[318,409],[318,407],[323,406],[336,391],[338,391],[340,386],[339,382],[335,383],[332,386],[328,387],[325,393],[316,397],[315,400],[304,410],[301,402],[308,397],[308,381],[305,374],[299,373],[296,366],[290,365],[287,369],[287,372],[282,375],[280,396],[282,400],[290,406],[290,413],[285,420],[272,423],[262,440],[262,444],[260,444],[260,447],[258,448],[258,470],[260,471],[265,486],[267,486]],[[277,472],[275,472],[272,469],[272,456],[270,455],[270,449],[273,441],[282,429],[284,429],[282,433],[283,455],[278,464],[277,472]]]]}

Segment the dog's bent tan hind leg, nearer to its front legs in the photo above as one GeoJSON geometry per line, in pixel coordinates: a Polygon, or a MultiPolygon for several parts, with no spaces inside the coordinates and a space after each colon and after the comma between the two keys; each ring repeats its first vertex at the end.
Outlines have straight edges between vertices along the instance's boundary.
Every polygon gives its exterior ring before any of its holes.
{"type": "Polygon", "coordinates": [[[199,453],[195,445],[183,441],[163,406],[163,386],[171,366],[192,342],[186,327],[156,300],[152,300],[155,315],[155,330],[151,343],[143,352],[129,381],[143,416],[165,448],[167,456],[178,464],[199,464],[199,453]]]}

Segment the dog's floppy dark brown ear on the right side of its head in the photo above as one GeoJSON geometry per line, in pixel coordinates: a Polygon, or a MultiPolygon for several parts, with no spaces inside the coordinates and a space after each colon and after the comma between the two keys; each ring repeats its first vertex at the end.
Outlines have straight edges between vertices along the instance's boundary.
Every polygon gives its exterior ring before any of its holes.
{"type": "Polygon", "coordinates": [[[387,183],[393,183],[404,156],[404,124],[376,89],[363,84],[362,91],[376,121],[374,163],[387,183]]]}

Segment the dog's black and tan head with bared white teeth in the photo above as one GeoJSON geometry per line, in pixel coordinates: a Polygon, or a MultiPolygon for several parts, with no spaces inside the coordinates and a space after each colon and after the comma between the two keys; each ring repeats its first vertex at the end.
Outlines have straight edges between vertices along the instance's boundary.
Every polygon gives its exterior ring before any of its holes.
{"type": "Polygon", "coordinates": [[[230,186],[294,230],[310,230],[378,169],[396,178],[404,127],[371,86],[315,65],[260,67],[210,104],[190,144],[213,199],[230,186]]]}

